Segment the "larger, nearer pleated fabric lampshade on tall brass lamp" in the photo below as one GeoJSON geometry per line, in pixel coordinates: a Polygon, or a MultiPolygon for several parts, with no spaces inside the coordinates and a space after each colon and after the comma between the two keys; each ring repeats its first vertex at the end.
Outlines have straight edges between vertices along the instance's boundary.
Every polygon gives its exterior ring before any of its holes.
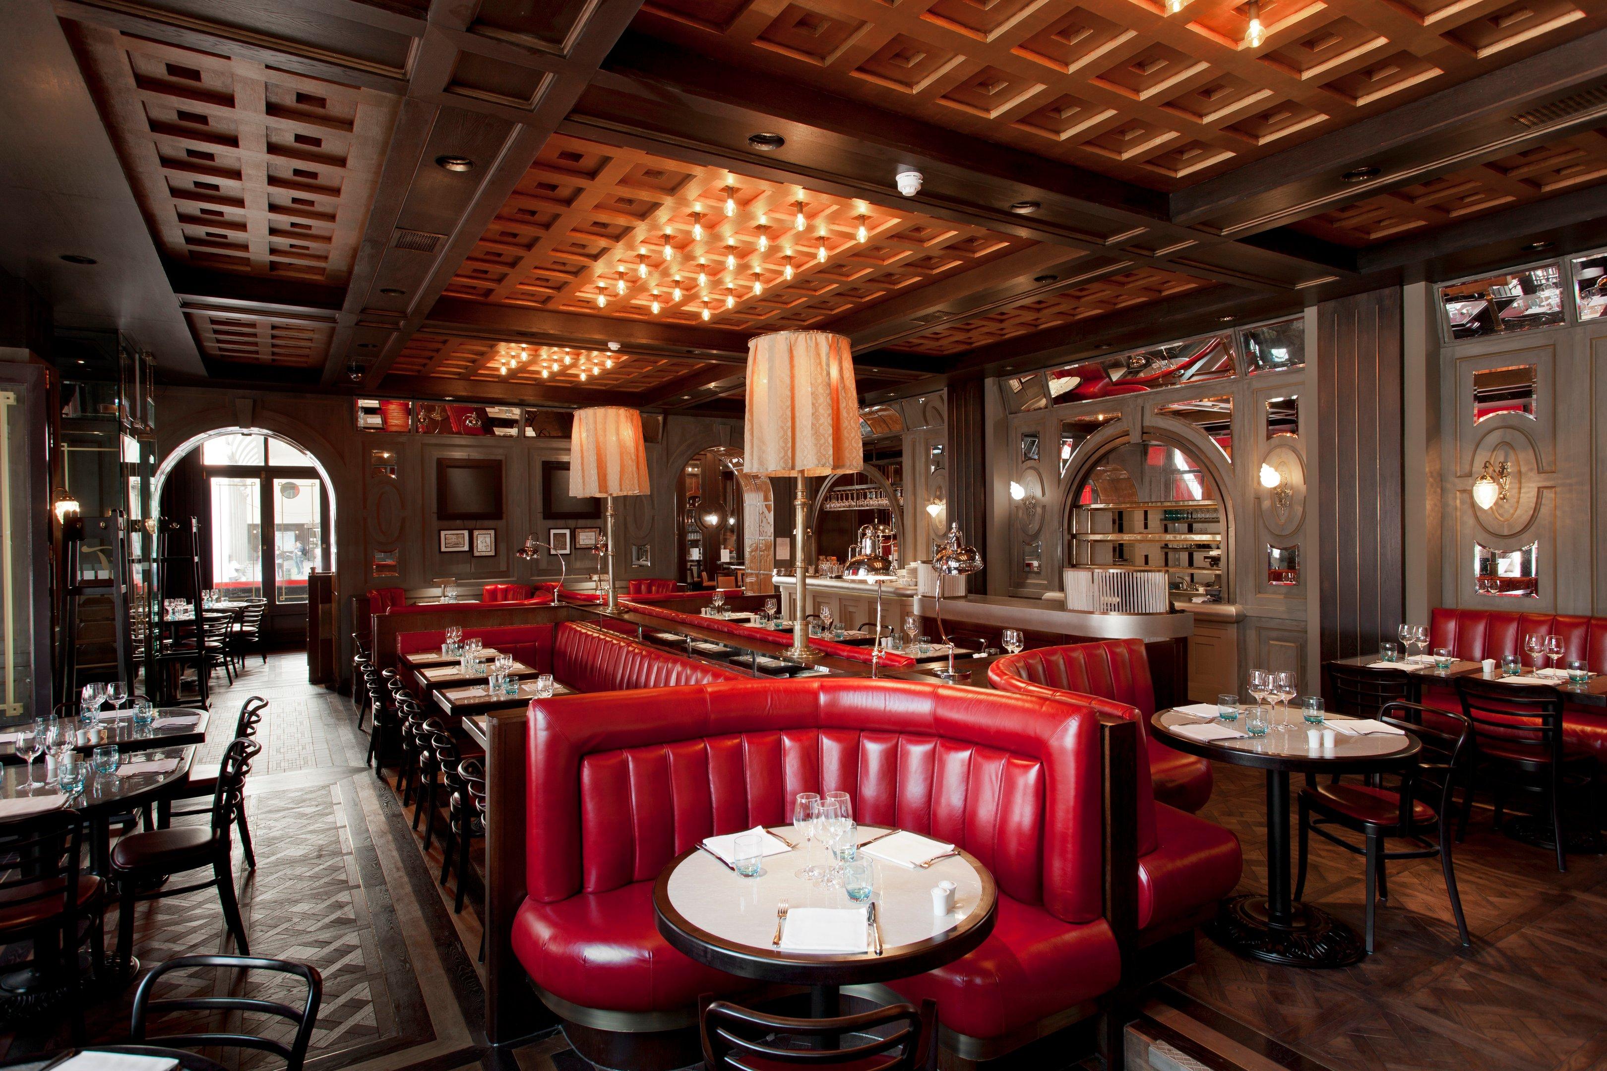
{"type": "Polygon", "coordinates": [[[742,470],[754,475],[858,472],[860,395],[848,339],[778,331],[747,344],[742,470]]]}

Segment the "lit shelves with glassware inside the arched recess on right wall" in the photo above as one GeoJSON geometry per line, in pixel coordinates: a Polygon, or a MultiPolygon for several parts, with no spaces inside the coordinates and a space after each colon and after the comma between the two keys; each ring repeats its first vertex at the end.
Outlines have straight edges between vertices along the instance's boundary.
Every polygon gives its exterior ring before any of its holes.
{"type": "Polygon", "coordinates": [[[1070,565],[1163,570],[1173,596],[1221,601],[1221,503],[1088,503],[1072,507],[1070,565]]]}

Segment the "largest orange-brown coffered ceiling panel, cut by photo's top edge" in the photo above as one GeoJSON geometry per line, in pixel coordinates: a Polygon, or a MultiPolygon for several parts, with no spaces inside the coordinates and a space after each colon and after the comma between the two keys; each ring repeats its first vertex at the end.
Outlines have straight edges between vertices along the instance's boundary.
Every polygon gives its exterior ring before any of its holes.
{"type": "Polygon", "coordinates": [[[636,27],[1173,189],[1607,24],[1596,0],[646,0],[636,27]],[[1581,22],[1583,19],[1583,22],[1581,22]]]}

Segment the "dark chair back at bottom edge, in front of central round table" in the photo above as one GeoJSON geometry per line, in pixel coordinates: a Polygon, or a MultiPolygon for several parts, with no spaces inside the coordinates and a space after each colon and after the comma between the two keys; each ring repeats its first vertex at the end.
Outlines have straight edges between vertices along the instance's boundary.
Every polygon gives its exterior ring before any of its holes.
{"type": "Polygon", "coordinates": [[[935,1071],[937,1002],[890,1004],[861,1015],[832,1020],[795,1020],[765,1015],[730,1000],[697,1002],[704,1065],[709,1071],[752,1068],[874,1068],[874,1071],[935,1071]],[[874,1031],[874,1032],[873,1032],[874,1031]],[[852,1036],[845,1049],[787,1049],[779,1037],[831,1044],[852,1036]]]}

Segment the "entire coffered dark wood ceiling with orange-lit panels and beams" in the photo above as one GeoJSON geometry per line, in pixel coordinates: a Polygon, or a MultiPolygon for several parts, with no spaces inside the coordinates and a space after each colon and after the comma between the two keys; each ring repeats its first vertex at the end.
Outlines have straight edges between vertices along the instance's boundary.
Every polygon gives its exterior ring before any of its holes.
{"type": "Polygon", "coordinates": [[[1607,0],[50,2],[228,382],[718,411],[1607,244],[1607,0]]]}

